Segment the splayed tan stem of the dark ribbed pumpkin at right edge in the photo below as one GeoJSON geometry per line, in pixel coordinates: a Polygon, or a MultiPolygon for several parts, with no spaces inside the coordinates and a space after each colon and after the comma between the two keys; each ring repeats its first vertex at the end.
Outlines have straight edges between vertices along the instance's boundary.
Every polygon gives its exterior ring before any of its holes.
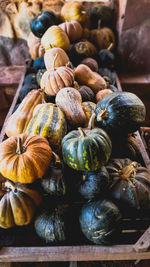
{"type": "Polygon", "coordinates": [[[130,180],[131,178],[135,178],[136,175],[136,168],[138,167],[138,163],[136,161],[131,162],[128,166],[125,166],[122,168],[122,170],[119,171],[120,177],[122,179],[130,180]]]}

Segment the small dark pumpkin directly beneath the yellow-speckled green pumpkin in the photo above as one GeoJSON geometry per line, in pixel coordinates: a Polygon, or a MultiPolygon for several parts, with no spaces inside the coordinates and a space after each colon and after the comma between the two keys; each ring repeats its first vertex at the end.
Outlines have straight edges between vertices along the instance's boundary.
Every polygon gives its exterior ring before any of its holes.
{"type": "Polygon", "coordinates": [[[103,166],[97,171],[85,171],[82,174],[78,191],[85,199],[100,198],[109,184],[109,174],[103,166]]]}

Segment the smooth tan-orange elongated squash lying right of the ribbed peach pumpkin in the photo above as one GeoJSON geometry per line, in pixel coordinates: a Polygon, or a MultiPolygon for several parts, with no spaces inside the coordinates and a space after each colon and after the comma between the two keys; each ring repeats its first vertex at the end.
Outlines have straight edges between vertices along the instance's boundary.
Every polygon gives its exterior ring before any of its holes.
{"type": "Polygon", "coordinates": [[[107,87],[106,81],[97,72],[92,71],[88,66],[79,64],[75,71],[75,80],[80,84],[89,86],[94,93],[107,87]]]}

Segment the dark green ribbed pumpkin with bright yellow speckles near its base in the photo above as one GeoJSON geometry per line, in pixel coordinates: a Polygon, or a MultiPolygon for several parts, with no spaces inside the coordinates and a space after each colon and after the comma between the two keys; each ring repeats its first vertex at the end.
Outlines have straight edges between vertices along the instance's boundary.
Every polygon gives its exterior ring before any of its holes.
{"type": "Polygon", "coordinates": [[[62,140],[64,162],[81,171],[96,171],[107,163],[112,144],[105,131],[99,128],[69,132],[62,140]]]}

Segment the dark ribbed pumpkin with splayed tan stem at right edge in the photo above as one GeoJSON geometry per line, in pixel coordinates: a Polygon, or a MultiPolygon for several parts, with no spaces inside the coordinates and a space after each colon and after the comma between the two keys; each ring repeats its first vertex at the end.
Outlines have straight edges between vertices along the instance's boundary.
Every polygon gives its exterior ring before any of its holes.
{"type": "Polygon", "coordinates": [[[120,205],[140,209],[150,206],[150,172],[129,158],[112,159],[106,166],[110,176],[109,190],[120,205]]]}

